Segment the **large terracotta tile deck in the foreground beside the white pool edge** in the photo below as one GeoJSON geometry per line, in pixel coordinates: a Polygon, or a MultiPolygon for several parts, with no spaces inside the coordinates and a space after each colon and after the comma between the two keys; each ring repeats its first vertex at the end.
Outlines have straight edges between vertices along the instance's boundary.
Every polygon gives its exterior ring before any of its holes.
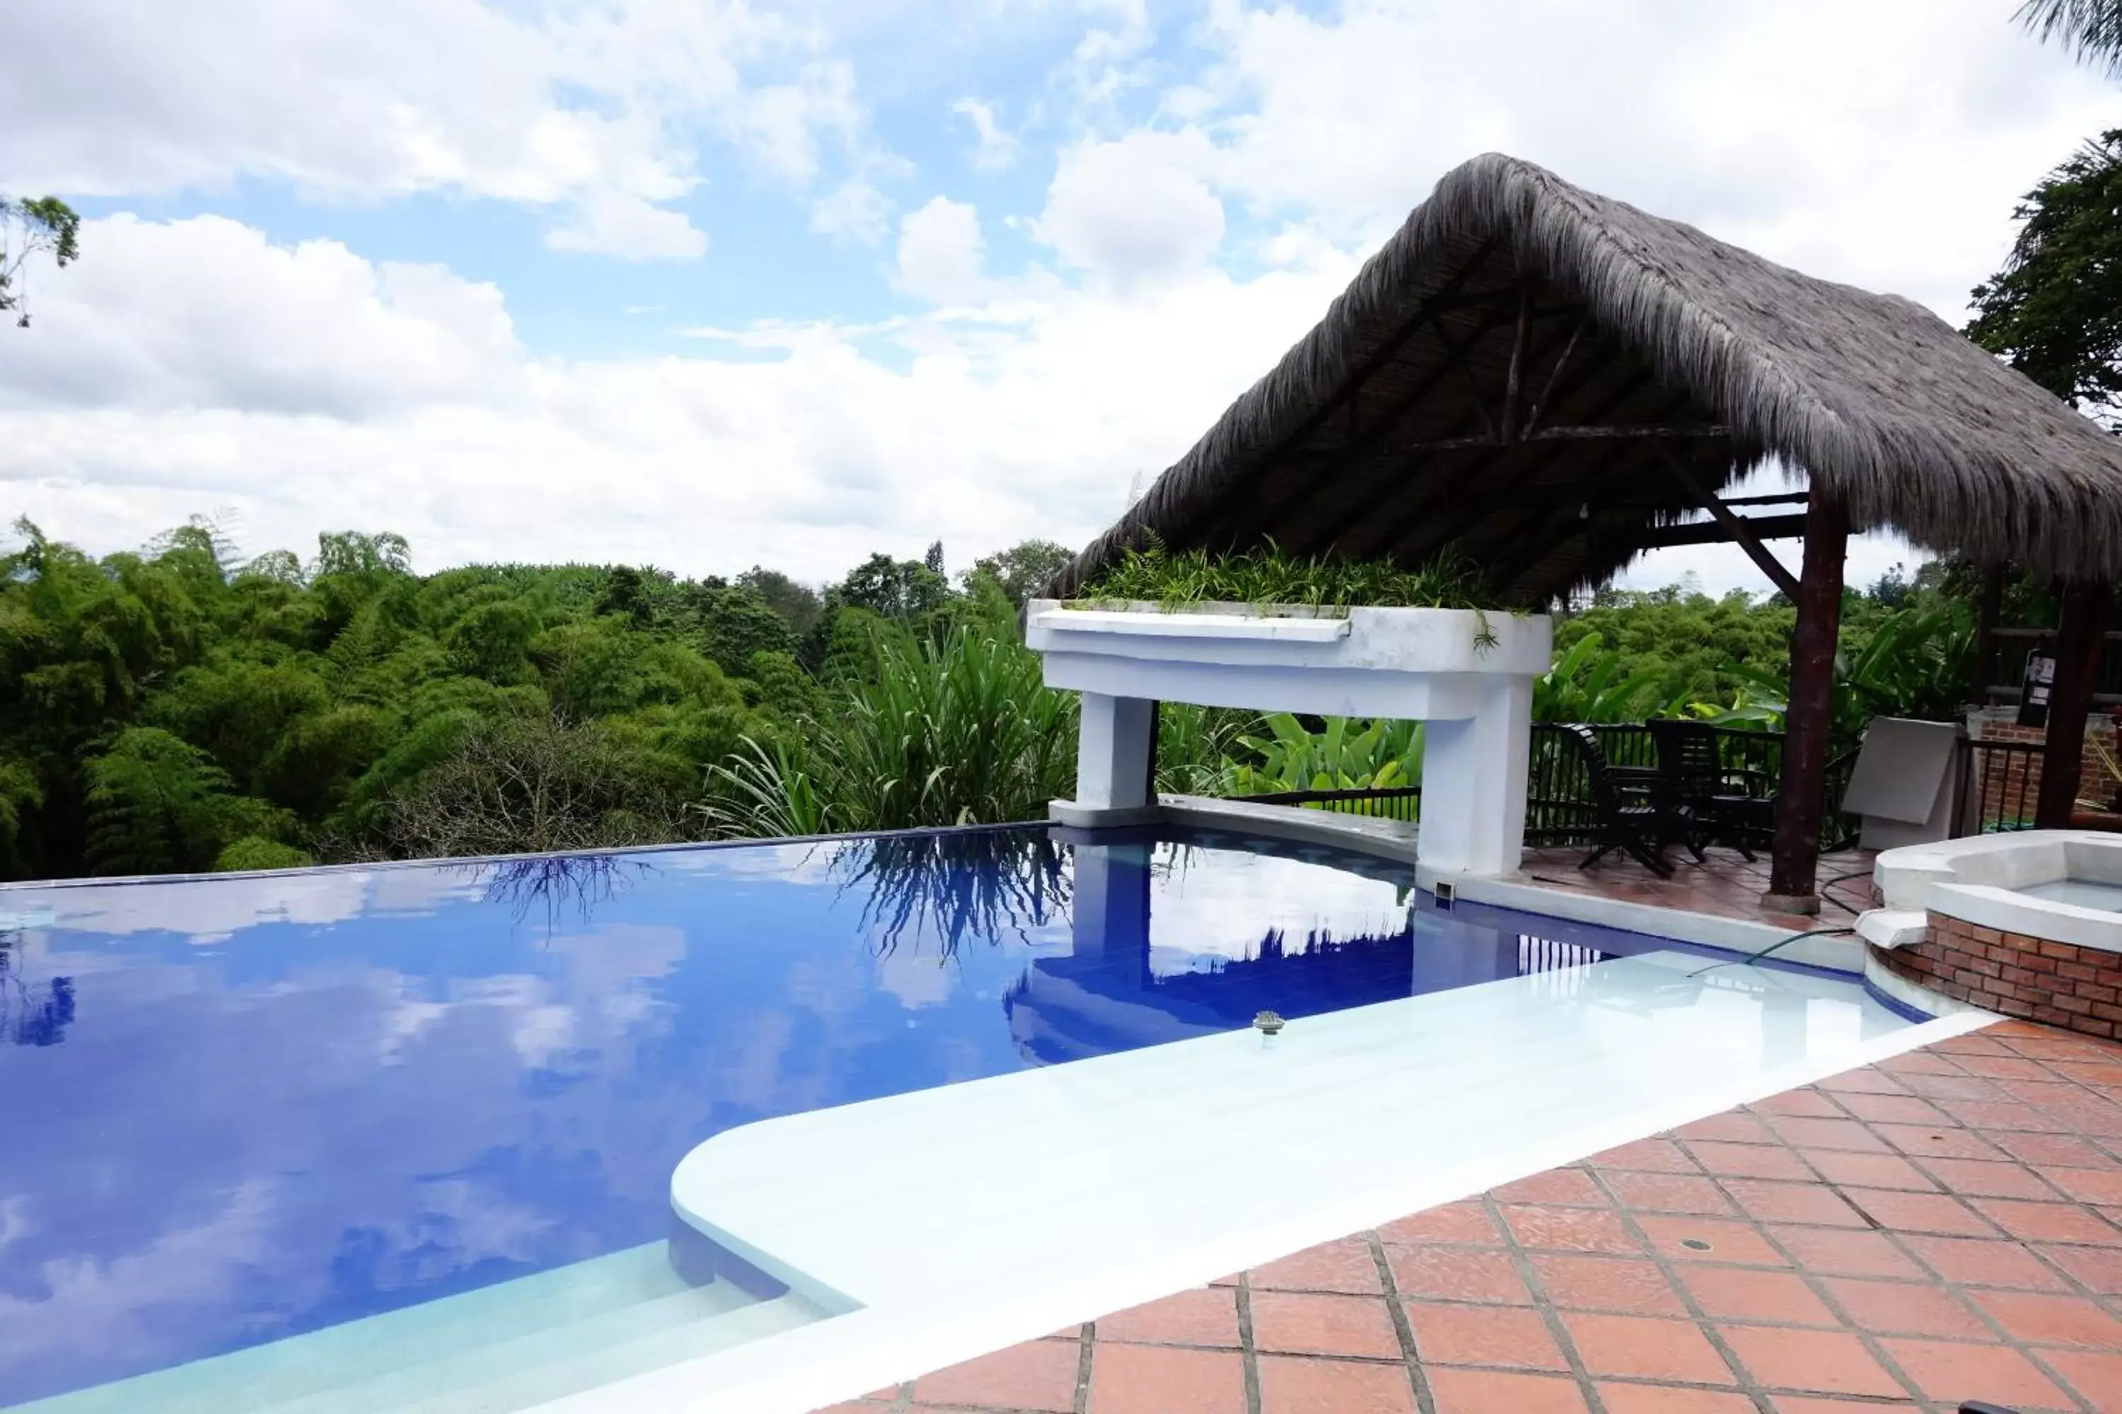
{"type": "Polygon", "coordinates": [[[2122,1047],[1999,1024],[838,1414],[2122,1412],[2122,1047]]]}

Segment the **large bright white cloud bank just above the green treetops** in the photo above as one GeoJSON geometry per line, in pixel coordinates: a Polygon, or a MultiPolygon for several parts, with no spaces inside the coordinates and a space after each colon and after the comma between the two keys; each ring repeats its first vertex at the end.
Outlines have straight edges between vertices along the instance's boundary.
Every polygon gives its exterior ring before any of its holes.
{"type": "MultiPolygon", "coordinates": [[[[972,214],[929,212],[959,235],[972,214]]],[[[219,507],[253,553],[393,528],[424,568],[825,579],[934,538],[957,562],[1082,541],[1350,273],[1197,271],[1127,297],[1027,282],[999,314],[915,320],[891,346],[794,326],[730,358],[560,360],[516,348],[499,295],[448,271],[219,218],[89,235],[93,265],[0,339],[0,502],[95,551],[219,507]]]]}

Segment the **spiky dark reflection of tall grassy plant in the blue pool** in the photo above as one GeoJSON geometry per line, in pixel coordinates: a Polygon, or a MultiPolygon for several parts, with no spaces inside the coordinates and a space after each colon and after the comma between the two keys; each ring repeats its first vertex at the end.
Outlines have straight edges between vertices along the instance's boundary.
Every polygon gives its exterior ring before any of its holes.
{"type": "Polygon", "coordinates": [[[1067,918],[1069,852],[1044,829],[944,831],[857,839],[832,856],[840,892],[868,888],[862,931],[879,952],[908,935],[953,956],[968,937],[995,941],[1067,918]]]}

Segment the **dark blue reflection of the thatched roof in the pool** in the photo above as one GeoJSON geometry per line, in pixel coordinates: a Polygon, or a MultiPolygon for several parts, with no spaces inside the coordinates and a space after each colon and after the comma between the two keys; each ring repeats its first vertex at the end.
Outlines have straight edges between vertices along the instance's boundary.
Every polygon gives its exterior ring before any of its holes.
{"type": "Polygon", "coordinates": [[[1280,931],[1243,958],[1154,977],[1148,945],[1038,958],[1002,998],[1029,1058],[1055,1064],[1118,1045],[1180,1041],[1246,1026],[1263,1009],[1316,1015],[1407,996],[1413,941],[1390,935],[1309,933],[1297,948],[1280,931]]]}

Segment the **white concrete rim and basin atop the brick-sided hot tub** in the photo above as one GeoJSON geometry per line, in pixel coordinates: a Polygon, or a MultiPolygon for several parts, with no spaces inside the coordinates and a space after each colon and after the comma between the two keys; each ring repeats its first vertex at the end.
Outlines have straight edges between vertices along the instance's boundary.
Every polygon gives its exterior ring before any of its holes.
{"type": "Polygon", "coordinates": [[[1857,920],[1878,948],[1920,941],[1929,914],[1982,929],[2122,952],[2122,835],[2029,829],[1886,850],[1882,907],[1857,920]]]}

